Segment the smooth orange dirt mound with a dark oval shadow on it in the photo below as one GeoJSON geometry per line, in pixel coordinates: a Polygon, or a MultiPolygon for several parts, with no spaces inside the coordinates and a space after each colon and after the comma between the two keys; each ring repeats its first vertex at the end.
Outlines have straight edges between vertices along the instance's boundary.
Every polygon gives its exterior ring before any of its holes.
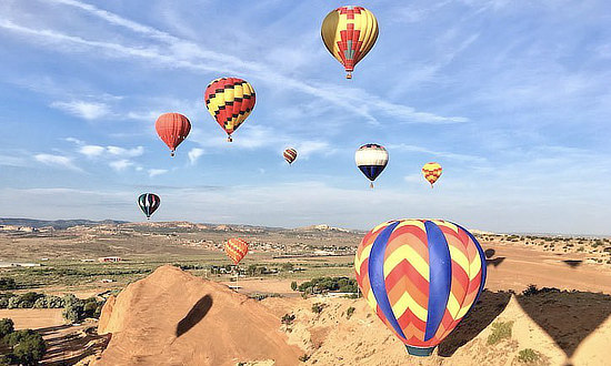
{"type": "Polygon", "coordinates": [[[96,365],[296,365],[303,354],[267,307],[173,266],[108,302],[98,331],[112,338],[96,365]]]}

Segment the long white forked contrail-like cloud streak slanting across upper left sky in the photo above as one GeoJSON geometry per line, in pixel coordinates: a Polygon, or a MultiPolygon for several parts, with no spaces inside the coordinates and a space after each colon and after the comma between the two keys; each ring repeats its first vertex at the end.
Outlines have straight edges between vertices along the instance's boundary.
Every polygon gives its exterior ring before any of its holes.
{"type": "MultiPolygon", "coordinates": [[[[279,73],[266,64],[244,61],[240,58],[210,51],[188,40],[173,37],[167,32],[124,19],[118,14],[101,10],[97,7],[72,0],[59,1],[67,6],[77,7],[113,26],[123,27],[137,33],[151,37],[163,42],[163,47],[128,47],[120,43],[86,40],[52,30],[30,29],[16,24],[10,20],[0,21],[0,27],[33,37],[50,39],[53,42],[67,43],[70,47],[88,47],[106,51],[110,58],[139,58],[164,68],[181,68],[197,72],[227,72],[237,75],[254,77],[260,82],[272,84],[274,88],[291,89],[314,98],[323,99],[349,113],[361,115],[370,122],[377,123],[375,114],[392,115],[395,120],[405,123],[461,123],[465,116],[444,116],[432,112],[418,111],[403,104],[392,103],[384,98],[373,95],[368,91],[349,87],[337,87],[325,83],[306,82],[300,79],[279,73]]],[[[71,51],[69,49],[69,51],[71,51]]]]}

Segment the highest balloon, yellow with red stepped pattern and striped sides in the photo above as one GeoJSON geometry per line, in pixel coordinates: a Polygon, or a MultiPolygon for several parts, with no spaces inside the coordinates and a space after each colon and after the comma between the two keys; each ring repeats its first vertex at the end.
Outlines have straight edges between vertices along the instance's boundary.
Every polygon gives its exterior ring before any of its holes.
{"type": "Polygon", "coordinates": [[[378,20],[365,8],[340,7],[322,21],[321,35],[327,50],[343,64],[345,79],[352,79],[354,67],[378,39],[378,20]]]}

